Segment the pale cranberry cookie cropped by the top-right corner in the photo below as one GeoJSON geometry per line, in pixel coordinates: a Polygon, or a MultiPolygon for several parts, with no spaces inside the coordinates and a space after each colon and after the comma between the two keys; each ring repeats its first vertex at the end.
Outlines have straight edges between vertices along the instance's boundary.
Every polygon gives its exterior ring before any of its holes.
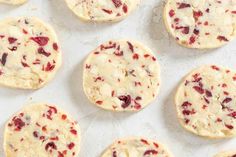
{"type": "Polygon", "coordinates": [[[221,47],[236,36],[235,0],[167,0],[164,21],[182,46],[221,47]]]}

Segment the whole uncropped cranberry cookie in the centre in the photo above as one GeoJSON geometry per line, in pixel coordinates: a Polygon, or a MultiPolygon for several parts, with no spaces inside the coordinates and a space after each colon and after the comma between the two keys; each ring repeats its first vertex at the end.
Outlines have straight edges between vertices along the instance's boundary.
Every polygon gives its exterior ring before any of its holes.
{"type": "Polygon", "coordinates": [[[156,57],[134,41],[101,44],[84,63],[85,94],[106,110],[139,111],[155,99],[159,86],[156,57]]]}

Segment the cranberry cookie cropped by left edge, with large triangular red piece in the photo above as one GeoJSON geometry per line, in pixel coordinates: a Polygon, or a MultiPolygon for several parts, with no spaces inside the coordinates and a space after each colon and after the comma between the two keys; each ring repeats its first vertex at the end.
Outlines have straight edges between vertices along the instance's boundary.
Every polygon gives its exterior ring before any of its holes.
{"type": "Polygon", "coordinates": [[[60,65],[57,36],[50,26],[34,17],[0,22],[0,85],[40,88],[60,65]]]}

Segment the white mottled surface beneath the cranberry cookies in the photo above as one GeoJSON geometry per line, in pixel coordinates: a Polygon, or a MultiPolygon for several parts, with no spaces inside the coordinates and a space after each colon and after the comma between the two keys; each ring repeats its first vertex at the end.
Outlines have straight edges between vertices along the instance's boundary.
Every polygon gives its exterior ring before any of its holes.
{"type": "MultiPolygon", "coordinates": [[[[166,33],[161,13],[163,2],[143,0],[127,19],[114,24],[80,21],[63,0],[29,0],[19,6],[0,4],[0,19],[36,16],[56,30],[63,51],[63,66],[55,79],[36,91],[0,88],[0,139],[4,124],[22,106],[49,102],[71,113],[82,131],[80,157],[99,157],[119,137],[146,136],[161,141],[175,157],[212,157],[222,150],[236,149],[236,139],[209,140],[185,131],[176,119],[173,104],[181,78],[202,64],[236,68],[236,40],[211,51],[190,50],[177,45],[166,33]],[[82,63],[99,44],[119,38],[143,42],[156,54],[162,69],[157,99],[139,113],[111,113],[89,103],[82,89],[82,63]]],[[[4,157],[2,146],[0,156],[4,157]]]]}

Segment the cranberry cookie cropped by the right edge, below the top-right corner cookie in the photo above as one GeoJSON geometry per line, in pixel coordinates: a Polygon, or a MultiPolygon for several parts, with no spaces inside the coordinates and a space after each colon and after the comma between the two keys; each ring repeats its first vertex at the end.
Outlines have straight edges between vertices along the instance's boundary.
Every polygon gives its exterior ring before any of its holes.
{"type": "Polygon", "coordinates": [[[188,131],[210,138],[236,135],[236,72],[206,65],[180,84],[175,103],[180,123],[188,131]]]}

